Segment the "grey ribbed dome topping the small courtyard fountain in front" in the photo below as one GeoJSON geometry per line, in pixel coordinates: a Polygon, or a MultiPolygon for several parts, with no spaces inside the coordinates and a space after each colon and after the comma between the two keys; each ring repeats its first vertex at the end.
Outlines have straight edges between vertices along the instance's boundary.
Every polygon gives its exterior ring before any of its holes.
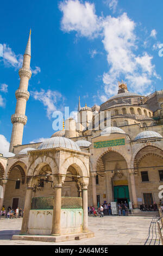
{"type": "Polygon", "coordinates": [[[64,137],[53,137],[41,143],[38,149],[66,148],[81,151],[76,142],[64,137]]]}

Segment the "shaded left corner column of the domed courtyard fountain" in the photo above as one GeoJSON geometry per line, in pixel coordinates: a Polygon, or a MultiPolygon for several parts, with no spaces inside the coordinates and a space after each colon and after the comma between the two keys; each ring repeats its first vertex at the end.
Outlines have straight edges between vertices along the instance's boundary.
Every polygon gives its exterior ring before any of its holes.
{"type": "Polygon", "coordinates": [[[30,213],[31,203],[32,203],[32,196],[33,196],[33,186],[27,187],[21,234],[27,234],[27,231],[28,231],[28,221],[29,221],[29,213],[30,213]]]}

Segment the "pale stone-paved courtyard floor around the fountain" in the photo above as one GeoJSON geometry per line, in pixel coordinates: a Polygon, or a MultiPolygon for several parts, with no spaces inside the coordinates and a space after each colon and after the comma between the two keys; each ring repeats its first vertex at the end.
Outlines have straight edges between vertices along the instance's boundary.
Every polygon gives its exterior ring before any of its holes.
{"type": "Polygon", "coordinates": [[[89,230],[95,237],[60,243],[16,241],[22,218],[0,220],[0,245],[158,245],[159,235],[152,217],[104,216],[89,217],[89,230]]]}

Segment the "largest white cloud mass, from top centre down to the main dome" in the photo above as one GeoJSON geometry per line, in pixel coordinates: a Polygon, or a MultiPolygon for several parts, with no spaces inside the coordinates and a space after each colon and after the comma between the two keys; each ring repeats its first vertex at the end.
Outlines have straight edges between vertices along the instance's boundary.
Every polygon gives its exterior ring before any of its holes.
{"type": "MultiPolygon", "coordinates": [[[[106,2],[112,9],[117,5],[117,1],[106,2]]],[[[122,78],[127,80],[128,87],[134,92],[142,94],[151,88],[154,78],[160,79],[156,74],[155,65],[152,64],[153,57],[147,52],[136,54],[139,46],[139,38],[135,32],[136,23],[126,13],[118,17],[97,17],[93,4],[79,3],[78,0],[64,1],[60,4],[60,9],[63,12],[62,29],[65,32],[76,31],[78,35],[87,38],[93,34],[102,38],[109,70],[103,74],[104,93],[99,96],[101,100],[117,93],[117,84],[122,78]],[[86,7],[91,10],[91,16],[86,7]],[[90,17],[91,22],[88,23],[90,17]]],[[[155,35],[156,31],[153,29],[151,36],[155,35]]],[[[96,50],[92,51],[92,57],[95,54],[96,50]]]]}

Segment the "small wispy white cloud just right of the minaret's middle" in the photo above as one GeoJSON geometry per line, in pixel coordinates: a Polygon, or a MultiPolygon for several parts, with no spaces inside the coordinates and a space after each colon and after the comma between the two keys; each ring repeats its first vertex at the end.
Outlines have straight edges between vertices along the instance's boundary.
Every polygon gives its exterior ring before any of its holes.
{"type": "Polygon", "coordinates": [[[46,107],[47,117],[51,119],[52,113],[57,110],[57,104],[59,101],[64,101],[64,97],[61,93],[53,90],[43,90],[40,92],[33,91],[30,94],[34,97],[35,100],[39,100],[46,107]]]}

